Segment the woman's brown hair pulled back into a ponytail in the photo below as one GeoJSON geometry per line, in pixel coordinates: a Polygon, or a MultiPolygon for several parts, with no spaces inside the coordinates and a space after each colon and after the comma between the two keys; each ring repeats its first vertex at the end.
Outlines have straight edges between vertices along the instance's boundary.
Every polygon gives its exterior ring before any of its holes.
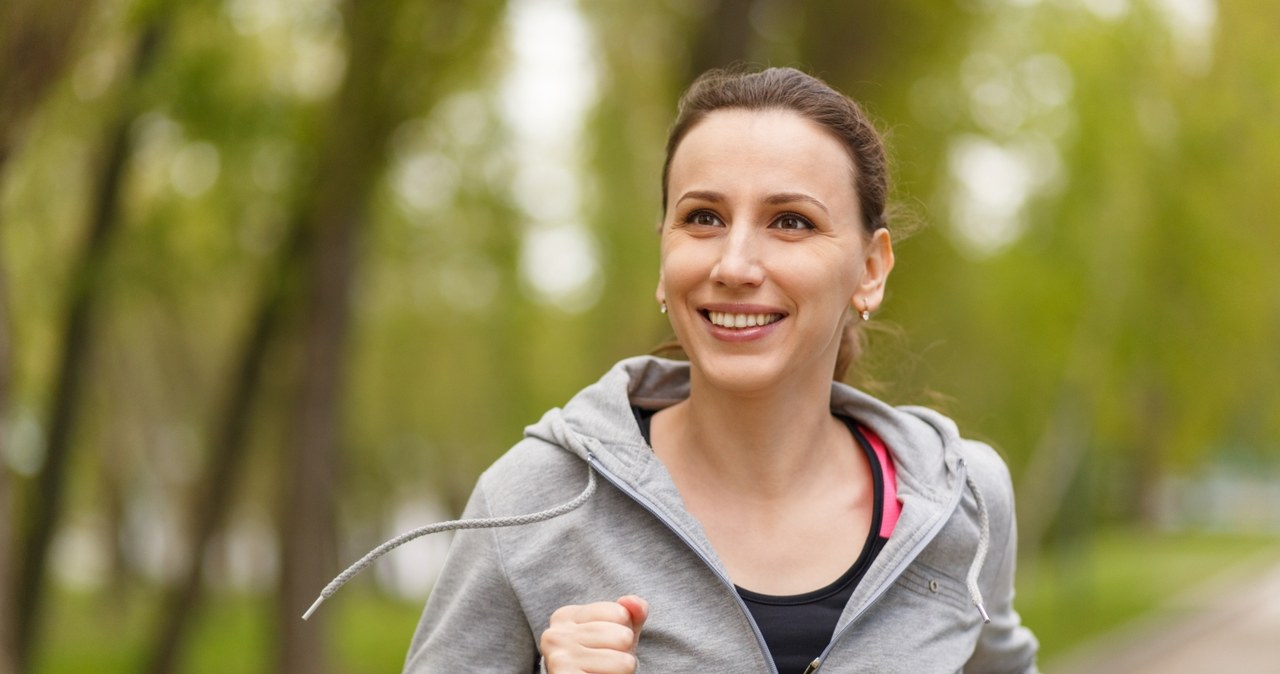
{"type": "MultiPolygon", "coordinates": [[[[863,109],[826,82],[794,68],[769,68],[756,73],[708,70],[680,98],[676,121],[667,136],[667,160],[662,166],[662,210],[667,211],[667,180],[671,160],[685,136],[717,110],[790,110],[827,129],[852,161],[854,192],[869,237],[888,226],[888,166],[884,142],[863,109]]],[[[861,352],[861,330],[852,313],[846,315],[833,379],[842,380],[861,352]]],[[[659,347],[673,350],[678,343],[659,347]]]]}

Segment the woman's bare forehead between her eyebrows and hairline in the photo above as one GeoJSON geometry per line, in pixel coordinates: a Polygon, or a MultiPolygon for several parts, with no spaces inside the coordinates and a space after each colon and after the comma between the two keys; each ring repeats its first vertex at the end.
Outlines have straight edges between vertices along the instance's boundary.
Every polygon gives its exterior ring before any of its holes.
{"type": "Polygon", "coordinates": [[[818,123],[790,110],[731,109],[710,113],[689,130],[672,157],[669,187],[749,180],[852,198],[852,171],[844,145],[818,123]]]}

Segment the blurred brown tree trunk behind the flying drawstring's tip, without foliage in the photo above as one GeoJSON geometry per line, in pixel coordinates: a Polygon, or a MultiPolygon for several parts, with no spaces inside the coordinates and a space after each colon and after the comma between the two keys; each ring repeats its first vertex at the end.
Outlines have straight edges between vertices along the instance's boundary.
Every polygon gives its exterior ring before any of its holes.
{"type": "Polygon", "coordinates": [[[337,555],[337,463],[340,443],[342,367],[351,317],[356,234],[393,129],[387,92],[374,88],[385,43],[381,26],[392,4],[346,6],[351,63],[321,137],[320,164],[302,201],[308,246],[302,261],[301,362],[283,462],[280,578],[275,671],[324,674],[328,615],[303,623],[302,613],[333,576],[337,555]]]}

